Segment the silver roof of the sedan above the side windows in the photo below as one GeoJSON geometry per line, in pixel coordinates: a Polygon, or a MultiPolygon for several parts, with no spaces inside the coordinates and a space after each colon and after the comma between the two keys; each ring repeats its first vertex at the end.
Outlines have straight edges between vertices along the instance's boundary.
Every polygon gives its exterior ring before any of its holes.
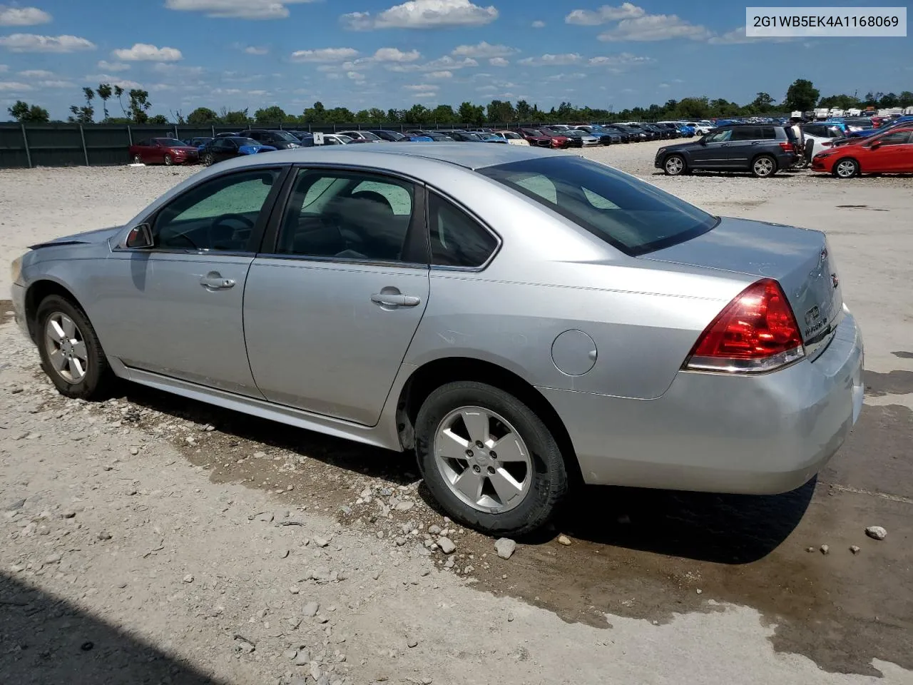
{"type": "MultiPolygon", "coordinates": [[[[357,163],[365,166],[382,166],[384,157],[420,157],[442,163],[451,163],[467,169],[481,169],[495,164],[520,162],[526,159],[554,156],[548,150],[519,145],[467,145],[463,142],[425,142],[421,145],[341,145],[324,148],[297,148],[269,153],[270,160],[288,163],[329,162],[357,163]]],[[[263,155],[257,155],[263,156],[263,155]]],[[[247,163],[264,163],[252,156],[247,163]]]]}

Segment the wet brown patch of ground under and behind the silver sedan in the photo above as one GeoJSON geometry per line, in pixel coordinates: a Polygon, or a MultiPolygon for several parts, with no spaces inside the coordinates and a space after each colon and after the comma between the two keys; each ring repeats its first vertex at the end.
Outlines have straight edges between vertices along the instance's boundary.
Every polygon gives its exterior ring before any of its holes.
{"type": "MultiPolygon", "coordinates": [[[[877,387],[879,378],[866,380],[877,387]]],[[[383,524],[386,537],[406,520],[442,524],[424,488],[415,492],[412,458],[141,386],[126,389],[132,404],[119,401],[122,422],[152,434],[158,428],[216,482],[271,490],[278,510],[306,506],[371,534],[383,524]],[[197,426],[176,428],[179,419],[197,426]],[[207,424],[214,429],[201,430],[207,424]],[[371,480],[394,493],[400,486],[413,489],[415,507],[396,512],[392,521],[372,521],[373,504],[343,513],[371,480]]],[[[911,438],[913,412],[906,407],[866,406],[817,484],[771,497],[586,488],[555,530],[522,541],[508,561],[494,554],[490,538],[458,536],[457,555],[464,556],[456,565],[473,565],[477,589],[519,598],[568,622],[612,629],[605,618],[612,614],[665,623],[677,613],[733,603],[752,606],[776,624],[774,648],[823,669],[878,675],[874,658],[913,669],[913,505],[903,501],[913,496],[913,464],[906,458],[911,438]],[[878,490],[902,497],[879,498],[878,490]],[[874,524],[887,528],[887,541],[866,538],[865,527],[874,524]],[[557,532],[571,536],[571,545],[559,544],[557,532]],[[824,543],[827,555],[819,551],[824,543]],[[850,552],[854,544],[859,554],[850,552]]],[[[437,554],[435,561],[443,559],[437,554]]]]}

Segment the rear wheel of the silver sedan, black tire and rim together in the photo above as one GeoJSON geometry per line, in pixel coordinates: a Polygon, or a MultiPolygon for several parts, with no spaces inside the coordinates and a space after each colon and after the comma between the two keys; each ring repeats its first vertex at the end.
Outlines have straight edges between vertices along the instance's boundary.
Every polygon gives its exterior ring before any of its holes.
{"type": "Polygon", "coordinates": [[[415,421],[425,484],[455,520],[522,535],[545,524],[568,488],[561,449],[539,416],[483,383],[437,388],[415,421]]]}

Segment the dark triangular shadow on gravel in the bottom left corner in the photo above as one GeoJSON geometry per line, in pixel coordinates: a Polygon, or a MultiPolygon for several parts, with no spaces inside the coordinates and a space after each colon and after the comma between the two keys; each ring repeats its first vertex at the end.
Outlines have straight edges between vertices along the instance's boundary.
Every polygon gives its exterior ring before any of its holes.
{"type": "Polygon", "coordinates": [[[84,609],[0,573],[0,682],[223,685],[84,609]]]}

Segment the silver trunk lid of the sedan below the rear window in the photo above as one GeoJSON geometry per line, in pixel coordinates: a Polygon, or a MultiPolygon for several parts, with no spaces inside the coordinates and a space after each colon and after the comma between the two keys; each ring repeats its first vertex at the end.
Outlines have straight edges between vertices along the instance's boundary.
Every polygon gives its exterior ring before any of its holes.
{"type": "Polygon", "coordinates": [[[840,281],[820,231],[724,217],[707,233],[643,258],[776,279],[811,358],[843,318],[840,281]]]}

